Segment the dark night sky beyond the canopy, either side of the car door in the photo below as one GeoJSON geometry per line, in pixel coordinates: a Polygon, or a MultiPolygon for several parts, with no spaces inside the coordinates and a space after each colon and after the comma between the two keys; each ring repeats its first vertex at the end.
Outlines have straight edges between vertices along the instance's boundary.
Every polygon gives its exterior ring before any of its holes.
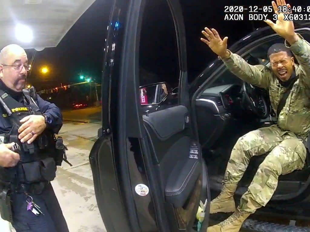
{"type": "MultiPolygon", "coordinates": [[[[56,48],[47,48],[36,53],[28,81],[30,84],[41,90],[60,86],[60,83],[76,83],[80,81],[78,73],[81,70],[100,83],[110,1],[97,0],[73,25],[56,48]],[[50,69],[47,75],[40,73],[40,68],[45,65],[50,69]]],[[[262,21],[224,21],[224,6],[228,5],[228,1],[181,0],[180,2],[184,10],[187,32],[190,80],[199,75],[207,64],[216,58],[216,55],[200,41],[201,30],[205,26],[217,29],[222,37],[228,36],[230,46],[255,28],[267,25],[262,21]]],[[[256,4],[255,1],[229,1],[229,5],[256,4]]],[[[305,0],[294,1],[291,5],[293,4],[307,5],[305,0]]],[[[259,5],[271,5],[271,1],[260,0],[259,5]]],[[[160,14],[155,17],[160,17],[160,14]]],[[[157,37],[151,33],[145,36],[156,43],[157,37]]],[[[30,59],[34,51],[27,52],[30,59]]]]}

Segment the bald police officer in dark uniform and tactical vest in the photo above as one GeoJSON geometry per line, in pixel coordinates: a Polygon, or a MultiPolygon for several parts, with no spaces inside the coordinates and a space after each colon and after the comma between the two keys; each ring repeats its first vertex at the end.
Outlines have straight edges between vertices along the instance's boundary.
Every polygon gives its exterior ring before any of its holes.
{"type": "Polygon", "coordinates": [[[1,50],[1,217],[17,232],[67,232],[50,183],[57,162],[54,134],[62,127],[62,115],[55,104],[24,89],[29,69],[23,48],[13,44],[1,50]]]}

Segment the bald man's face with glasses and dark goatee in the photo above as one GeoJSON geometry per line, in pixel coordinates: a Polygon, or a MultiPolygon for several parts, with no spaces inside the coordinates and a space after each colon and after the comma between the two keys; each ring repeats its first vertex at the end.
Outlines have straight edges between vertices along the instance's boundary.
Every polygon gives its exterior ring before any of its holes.
{"type": "Polygon", "coordinates": [[[9,52],[0,65],[0,77],[4,84],[20,92],[25,88],[27,80],[27,70],[23,65],[28,65],[27,54],[24,50],[9,52]]]}

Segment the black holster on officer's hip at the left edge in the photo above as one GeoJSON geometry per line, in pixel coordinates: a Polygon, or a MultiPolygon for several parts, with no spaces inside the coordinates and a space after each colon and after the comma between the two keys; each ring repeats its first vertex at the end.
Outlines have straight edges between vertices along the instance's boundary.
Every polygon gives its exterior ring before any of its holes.
{"type": "Polygon", "coordinates": [[[0,183],[0,214],[3,220],[13,223],[11,189],[4,183],[0,183]]]}

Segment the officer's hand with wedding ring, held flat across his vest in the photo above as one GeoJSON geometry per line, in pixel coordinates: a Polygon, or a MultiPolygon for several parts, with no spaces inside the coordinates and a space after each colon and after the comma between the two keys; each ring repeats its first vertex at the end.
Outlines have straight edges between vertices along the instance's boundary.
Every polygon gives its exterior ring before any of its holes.
{"type": "Polygon", "coordinates": [[[46,123],[42,115],[29,115],[20,120],[23,123],[18,132],[18,138],[20,142],[24,143],[27,141],[31,144],[46,128],[46,123]]]}

